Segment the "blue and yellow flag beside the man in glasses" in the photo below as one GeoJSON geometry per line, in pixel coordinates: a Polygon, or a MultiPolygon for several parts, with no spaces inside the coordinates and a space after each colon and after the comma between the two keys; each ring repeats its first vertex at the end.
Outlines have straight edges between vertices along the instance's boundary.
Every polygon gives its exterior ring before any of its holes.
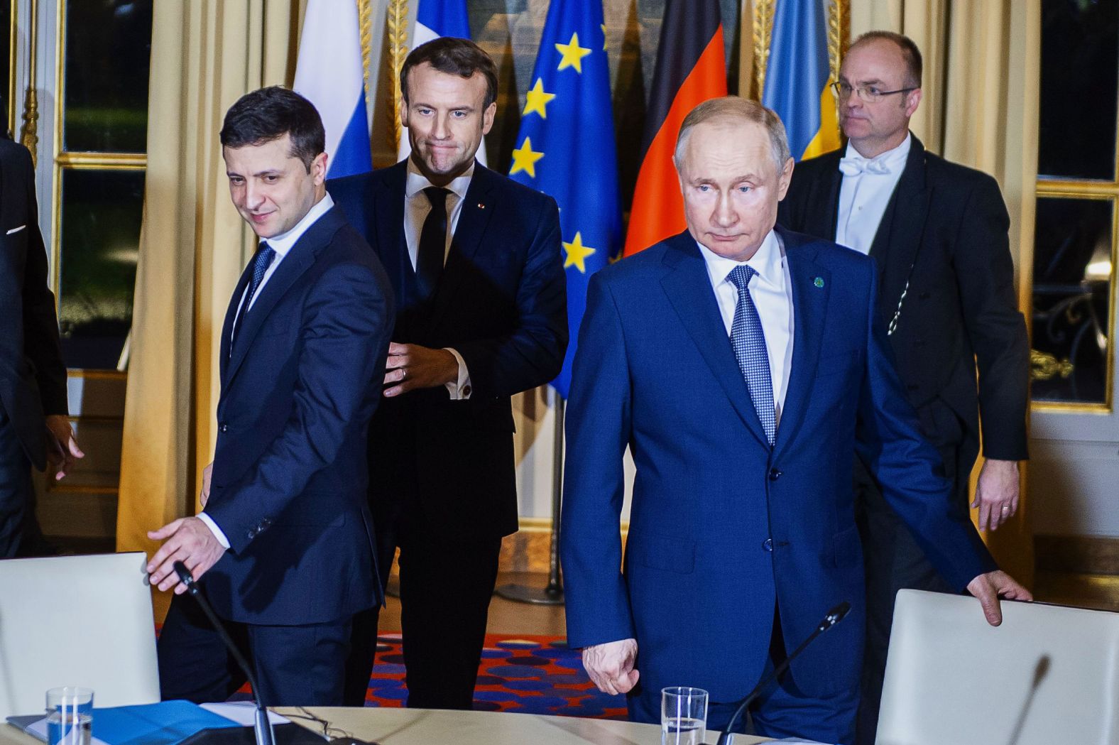
{"type": "Polygon", "coordinates": [[[784,122],[797,160],[839,147],[829,68],[821,0],[777,0],[762,104],[784,122]]]}

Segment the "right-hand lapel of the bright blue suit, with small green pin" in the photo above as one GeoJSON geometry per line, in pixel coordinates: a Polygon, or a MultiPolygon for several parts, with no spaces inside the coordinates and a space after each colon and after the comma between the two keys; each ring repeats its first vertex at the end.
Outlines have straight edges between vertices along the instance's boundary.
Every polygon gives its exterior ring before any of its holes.
{"type": "Polygon", "coordinates": [[[773,454],[778,456],[793,440],[812,396],[816,367],[824,340],[824,319],[831,290],[831,273],[816,263],[816,252],[789,234],[779,233],[786,245],[789,279],[792,282],[792,369],[784,394],[781,423],[777,427],[773,454]]]}

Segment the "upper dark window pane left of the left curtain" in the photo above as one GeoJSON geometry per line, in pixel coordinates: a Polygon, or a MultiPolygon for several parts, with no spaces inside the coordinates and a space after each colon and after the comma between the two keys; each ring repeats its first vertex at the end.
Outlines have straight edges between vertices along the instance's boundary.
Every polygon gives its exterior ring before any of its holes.
{"type": "Polygon", "coordinates": [[[151,7],[152,0],[66,3],[65,150],[147,150],[151,7]]]}

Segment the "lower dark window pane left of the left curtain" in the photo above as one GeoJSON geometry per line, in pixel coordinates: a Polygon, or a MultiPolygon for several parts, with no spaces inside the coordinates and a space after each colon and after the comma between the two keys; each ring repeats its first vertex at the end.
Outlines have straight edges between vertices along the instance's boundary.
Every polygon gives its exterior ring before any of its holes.
{"type": "Polygon", "coordinates": [[[132,324],[143,171],[62,171],[59,318],[67,367],[116,367],[132,324]]]}

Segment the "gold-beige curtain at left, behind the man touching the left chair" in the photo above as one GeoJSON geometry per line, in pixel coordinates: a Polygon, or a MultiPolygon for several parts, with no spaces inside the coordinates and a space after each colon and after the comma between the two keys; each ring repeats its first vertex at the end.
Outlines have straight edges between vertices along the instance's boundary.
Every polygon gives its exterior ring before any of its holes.
{"type": "Polygon", "coordinates": [[[242,94],[290,84],[299,18],[300,0],[156,3],[117,550],[150,554],[148,530],[196,509],[222,322],[255,244],[229,202],[218,131],[242,94]]]}

